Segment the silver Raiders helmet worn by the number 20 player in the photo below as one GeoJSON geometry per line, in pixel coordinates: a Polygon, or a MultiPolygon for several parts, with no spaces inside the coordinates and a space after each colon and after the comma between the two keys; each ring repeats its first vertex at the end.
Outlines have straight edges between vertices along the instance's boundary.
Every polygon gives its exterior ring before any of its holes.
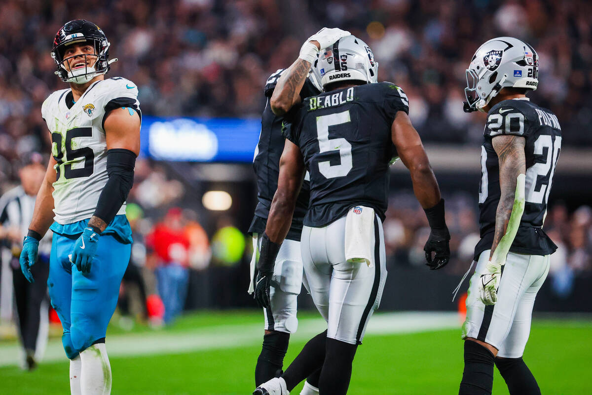
{"type": "Polygon", "coordinates": [[[539,57],[535,49],[514,37],[493,38],[479,47],[466,69],[464,110],[483,107],[505,86],[536,89],[539,57]]]}

